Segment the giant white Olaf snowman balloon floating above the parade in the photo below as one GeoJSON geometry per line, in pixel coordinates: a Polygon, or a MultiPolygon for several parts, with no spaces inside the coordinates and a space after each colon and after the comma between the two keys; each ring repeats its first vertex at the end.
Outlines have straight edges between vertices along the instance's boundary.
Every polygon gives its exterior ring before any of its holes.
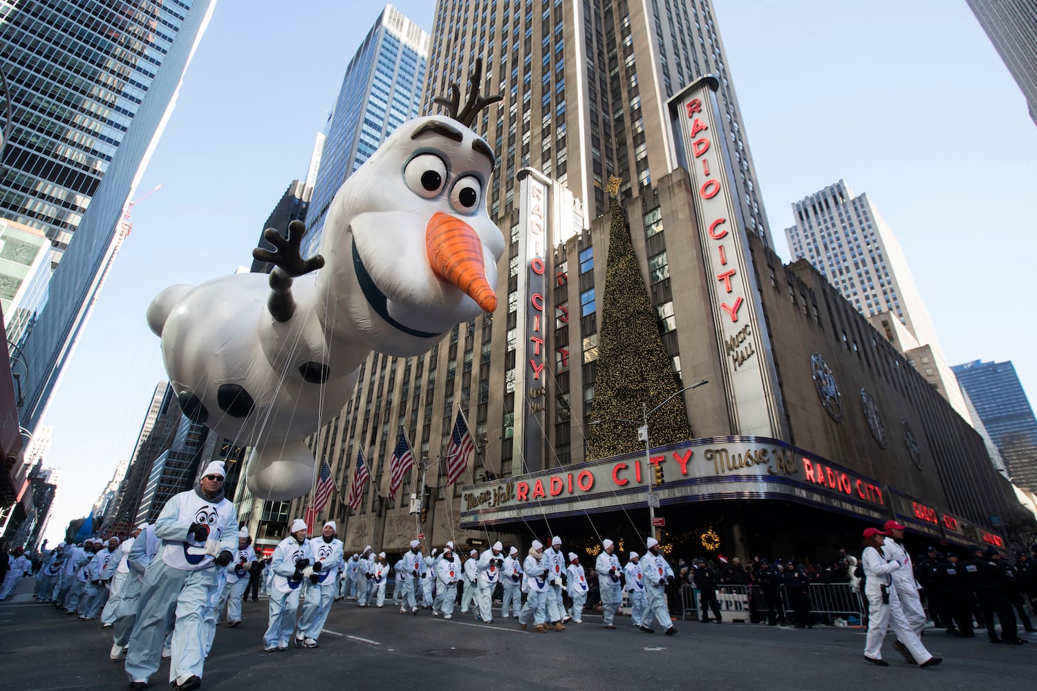
{"type": "Polygon", "coordinates": [[[309,491],[303,440],[339,414],[371,350],[418,355],[455,324],[497,307],[504,237],[486,213],[493,149],[470,128],[501,99],[479,95],[482,65],[436,98],[447,116],[401,124],[339,189],[320,253],[305,230],[268,229],[270,276],[239,273],[162,291],[147,310],[184,414],[252,445],[249,489],[265,499],[309,491]],[[317,269],[321,269],[317,271],[317,269]]]}

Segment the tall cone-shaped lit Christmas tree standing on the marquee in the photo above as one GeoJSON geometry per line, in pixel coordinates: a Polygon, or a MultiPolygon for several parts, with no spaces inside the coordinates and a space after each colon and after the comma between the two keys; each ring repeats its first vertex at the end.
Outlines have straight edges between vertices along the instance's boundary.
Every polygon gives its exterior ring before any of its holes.
{"type": "MultiPolygon", "coordinates": [[[[609,180],[609,259],[590,411],[590,419],[600,422],[588,428],[588,459],[644,451],[644,442],[638,440],[639,425],[617,419],[639,421],[643,403],[651,410],[679,391],[658,333],[658,317],[630,243],[626,213],[619,204],[619,182],[616,177],[609,180]]],[[[648,419],[648,430],[652,447],[691,439],[683,397],[674,396],[656,410],[648,419]]]]}

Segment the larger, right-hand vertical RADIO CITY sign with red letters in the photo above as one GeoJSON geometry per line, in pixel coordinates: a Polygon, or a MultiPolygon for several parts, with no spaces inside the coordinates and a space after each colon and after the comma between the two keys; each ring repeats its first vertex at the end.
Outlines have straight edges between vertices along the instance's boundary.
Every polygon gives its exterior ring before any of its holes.
{"type": "Polygon", "coordinates": [[[732,433],[785,438],[785,415],[777,391],[759,286],[734,196],[734,167],[716,77],[696,80],[667,103],[677,164],[691,174],[704,268],[725,363],[724,385],[732,433]]]}

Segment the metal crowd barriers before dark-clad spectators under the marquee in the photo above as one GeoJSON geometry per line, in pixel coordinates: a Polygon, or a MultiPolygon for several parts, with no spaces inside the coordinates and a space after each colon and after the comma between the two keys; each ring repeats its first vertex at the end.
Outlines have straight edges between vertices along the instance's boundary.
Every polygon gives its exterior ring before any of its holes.
{"type": "MultiPolygon", "coordinates": [[[[782,585],[779,589],[788,618],[794,609],[785,593],[785,586],[782,585]]],[[[849,583],[811,583],[808,595],[815,624],[833,624],[837,618],[849,625],[861,625],[865,622],[868,611],[867,601],[849,583]]],[[[683,584],[676,600],[682,620],[701,618],[699,588],[683,584]]],[[[717,588],[717,601],[720,604],[721,616],[726,622],[766,621],[767,603],[763,589],[758,585],[722,585],[717,588]]],[[[709,616],[712,617],[712,612],[709,612],[709,616]]]]}

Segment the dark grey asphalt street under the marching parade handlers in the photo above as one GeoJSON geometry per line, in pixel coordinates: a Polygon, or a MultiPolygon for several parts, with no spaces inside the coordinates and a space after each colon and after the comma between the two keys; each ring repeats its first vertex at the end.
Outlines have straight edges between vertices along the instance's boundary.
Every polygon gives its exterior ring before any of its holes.
{"type": "MultiPolygon", "coordinates": [[[[0,688],[27,691],[110,691],[129,683],[121,662],[111,662],[111,636],[100,621],[80,622],[32,599],[33,580],[0,603],[0,688]]],[[[887,636],[889,667],[863,659],[864,630],[676,621],[679,633],[653,635],[617,617],[600,615],[565,631],[521,631],[513,620],[481,624],[457,609],[452,621],[427,610],[400,614],[337,602],[315,650],[263,653],[268,603],[246,602],[244,623],[221,626],[205,663],[203,689],[307,691],[336,688],[580,689],[636,685],[665,689],[760,687],[767,689],[1034,688],[1037,639],[1029,645],[994,645],[978,632],[962,639],[930,630],[923,642],[944,663],[920,669],[905,663],[887,636]]],[[[498,610],[499,613],[499,610],[498,610]]],[[[1020,635],[1024,635],[1020,631],[1020,635]]],[[[151,678],[169,688],[168,664],[151,678]]]]}

